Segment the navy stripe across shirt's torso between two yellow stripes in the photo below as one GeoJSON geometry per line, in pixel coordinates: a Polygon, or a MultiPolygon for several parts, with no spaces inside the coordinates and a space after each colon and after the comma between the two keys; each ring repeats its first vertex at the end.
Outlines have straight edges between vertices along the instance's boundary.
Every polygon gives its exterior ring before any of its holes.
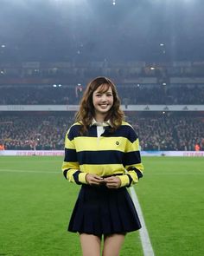
{"type": "Polygon", "coordinates": [[[124,153],[117,150],[81,151],[78,161],[81,164],[121,164],[124,153]]]}

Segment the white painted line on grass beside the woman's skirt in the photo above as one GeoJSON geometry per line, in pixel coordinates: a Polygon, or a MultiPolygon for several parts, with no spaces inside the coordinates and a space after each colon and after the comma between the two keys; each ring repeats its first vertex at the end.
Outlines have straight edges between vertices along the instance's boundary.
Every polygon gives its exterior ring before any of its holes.
{"type": "Polygon", "coordinates": [[[155,256],[155,253],[153,251],[153,248],[151,246],[150,242],[150,236],[147,231],[147,227],[145,225],[145,222],[143,220],[143,212],[140,207],[139,201],[137,199],[137,194],[135,192],[135,189],[133,187],[130,188],[131,191],[131,198],[133,200],[133,203],[137,209],[137,213],[142,225],[142,228],[139,230],[139,235],[140,235],[140,240],[142,242],[142,247],[143,247],[143,256],[155,256]]]}

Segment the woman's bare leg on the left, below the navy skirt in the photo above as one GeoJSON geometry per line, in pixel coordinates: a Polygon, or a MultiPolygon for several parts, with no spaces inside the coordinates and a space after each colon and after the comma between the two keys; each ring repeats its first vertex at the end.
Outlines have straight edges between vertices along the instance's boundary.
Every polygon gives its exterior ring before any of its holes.
{"type": "Polygon", "coordinates": [[[99,236],[80,233],[80,245],[83,256],[100,256],[101,238],[99,236]]]}

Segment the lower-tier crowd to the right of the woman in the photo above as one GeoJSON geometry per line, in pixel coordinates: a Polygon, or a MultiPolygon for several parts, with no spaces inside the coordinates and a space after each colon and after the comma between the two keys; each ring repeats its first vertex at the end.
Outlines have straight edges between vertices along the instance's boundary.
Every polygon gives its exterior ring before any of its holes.
{"type": "Polygon", "coordinates": [[[194,150],[195,144],[204,150],[204,118],[168,116],[159,118],[134,118],[133,127],[138,131],[143,150],[194,150]]]}

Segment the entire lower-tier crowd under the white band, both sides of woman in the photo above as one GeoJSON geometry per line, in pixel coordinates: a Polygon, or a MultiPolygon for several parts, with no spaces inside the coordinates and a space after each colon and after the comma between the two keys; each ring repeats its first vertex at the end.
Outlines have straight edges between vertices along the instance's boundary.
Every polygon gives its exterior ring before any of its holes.
{"type": "MultiPolygon", "coordinates": [[[[127,116],[136,129],[142,150],[204,150],[204,118],[190,115],[127,116]]],[[[0,144],[5,149],[64,148],[73,115],[0,115],[0,144]]]]}

